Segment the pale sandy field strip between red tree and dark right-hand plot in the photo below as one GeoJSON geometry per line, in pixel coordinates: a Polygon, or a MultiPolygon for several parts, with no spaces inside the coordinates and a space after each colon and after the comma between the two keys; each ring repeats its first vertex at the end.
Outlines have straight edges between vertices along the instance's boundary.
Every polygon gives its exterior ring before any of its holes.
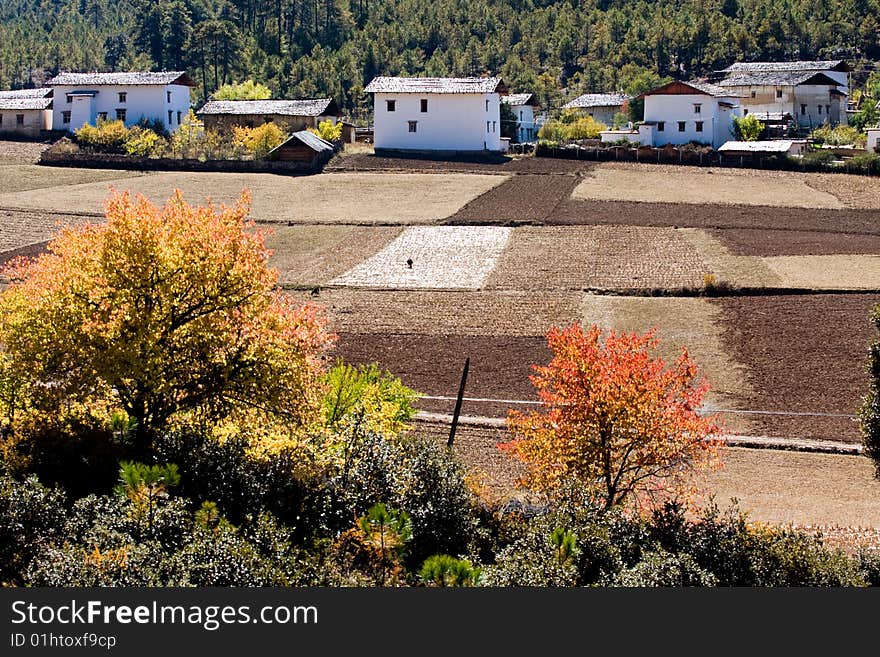
{"type": "MultiPolygon", "coordinates": [[[[707,299],[677,297],[620,297],[586,294],[581,304],[584,325],[644,333],[656,328],[658,354],[674,362],[686,347],[711,388],[707,402],[716,408],[739,408],[739,399],[751,391],[746,368],[723,347],[721,312],[707,299]]],[[[728,433],[750,433],[745,415],[722,419],[728,433]]]]}

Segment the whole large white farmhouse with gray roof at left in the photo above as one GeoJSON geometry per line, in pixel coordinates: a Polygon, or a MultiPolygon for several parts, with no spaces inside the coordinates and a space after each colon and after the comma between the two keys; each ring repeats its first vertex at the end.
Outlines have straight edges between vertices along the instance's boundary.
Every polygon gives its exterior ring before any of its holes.
{"type": "Polygon", "coordinates": [[[183,71],[134,73],[60,73],[46,82],[54,89],[52,124],[73,132],[98,119],[119,119],[127,126],[141,119],[176,130],[190,107],[195,82],[183,71]]]}

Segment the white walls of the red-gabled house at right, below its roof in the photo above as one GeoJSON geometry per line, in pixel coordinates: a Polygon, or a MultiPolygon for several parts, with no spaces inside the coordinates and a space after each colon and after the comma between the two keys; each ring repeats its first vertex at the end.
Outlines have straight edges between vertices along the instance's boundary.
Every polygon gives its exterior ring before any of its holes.
{"type": "Polygon", "coordinates": [[[663,123],[654,126],[654,146],[686,144],[696,141],[718,148],[733,139],[733,116],[735,112],[719,107],[718,101],[734,103],[733,98],[715,98],[702,94],[662,95],[645,97],[645,121],[663,123]],[[700,113],[694,111],[700,105],[700,113]],[[684,121],[684,131],[678,122],[684,121]],[[703,122],[702,132],[697,131],[697,121],[703,122]]]}

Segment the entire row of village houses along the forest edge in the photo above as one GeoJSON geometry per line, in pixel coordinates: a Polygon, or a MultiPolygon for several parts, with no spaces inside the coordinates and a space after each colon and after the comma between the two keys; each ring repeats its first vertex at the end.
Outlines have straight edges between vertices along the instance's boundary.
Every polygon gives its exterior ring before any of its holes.
{"type": "MultiPolygon", "coordinates": [[[[738,62],[704,80],[676,80],[630,98],[621,93],[589,93],[561,109],[593,117],[609,127],[603,142],[627,140],[643,146],[698,143],[726,152],[796,154],[805,136],[828,124],[847,123],[850,68],[843,60],[738,62]],[[628,103],[644,103],[644,120],[619,117],[628,103]],[[734,121],[758,118],[771,141],[731,143],[734,121]]],[[[47,131],[73,132],[99,119],[127,126],[159,122],[174,132],[190,108],[194,82],[183,71],[61,73],[44,88],[0,92],[0,132],[36,137],[47,131]]],[[[365,88],[373,95],[372,141],[377,152],[504,152],[510,141],[534,142],[543,116],[533,94],[512,93],[499,77],[376,77],[365,88]],[[509,112],[502,112],[506,105],[509,112]],[[506,115],[506,119],[502,119],[506,115]],[[512,119],[509,117],[513,117],[512,119]],[[502,136],[502,121],[515,125],[502,136]]],[[[209,100],[197,115],[206,128],[254,127],[274,121],[288,130],[343,123],[342,140],[356,129],[341,120],[331,98],[297,100],[209,100]]],[[[876,146],[870,130],[868,148],[876,146]]]]}

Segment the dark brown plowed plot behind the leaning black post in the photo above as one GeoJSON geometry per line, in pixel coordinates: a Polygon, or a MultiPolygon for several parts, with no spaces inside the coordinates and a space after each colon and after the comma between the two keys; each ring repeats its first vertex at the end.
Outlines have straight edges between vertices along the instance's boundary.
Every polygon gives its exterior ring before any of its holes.
{"type": "MultiPolygon", "coordinates": [[[[543,337],[342,333],[336,356],[351,363],[377,362],[426,395],[455,397],[470,357],[466,397],[536,399],[529,381],[533,363],[547,363],[543,337]]],[[[452,401],[423,399],[419,408],[451,413],[452,401]]],[[[504,417],[510,406],[464,402],[462,414],[504,417]]],[[[522,407],[520,407],[522,408],[522,407]]],[[[525,407],[530,408],[530,407],[525,407]]]]}

